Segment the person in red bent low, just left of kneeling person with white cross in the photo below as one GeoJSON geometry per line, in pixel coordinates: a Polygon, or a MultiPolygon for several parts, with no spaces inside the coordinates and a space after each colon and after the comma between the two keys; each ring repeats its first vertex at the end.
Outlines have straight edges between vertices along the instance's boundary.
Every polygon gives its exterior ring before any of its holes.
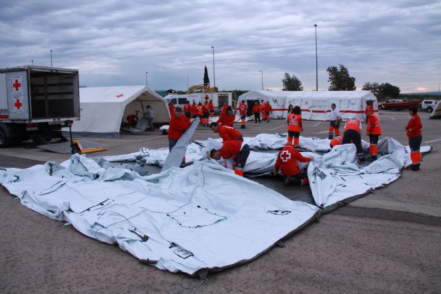
{"type": "Polygon", "coordinates": [[[243,141],[228,140],[224,142],[208,138],[207,158],[219,160],[220,158],[229,158],[234,162],[234,174],[243,176],[243,168],[249,156],[249,146],[243,141]]]}

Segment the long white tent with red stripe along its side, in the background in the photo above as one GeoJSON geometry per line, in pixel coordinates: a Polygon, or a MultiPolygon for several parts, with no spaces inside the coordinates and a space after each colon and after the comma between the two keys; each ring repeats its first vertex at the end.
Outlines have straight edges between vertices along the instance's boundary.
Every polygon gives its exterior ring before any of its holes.
{"type": "Polygon", "coordinates": [[[373,109],[378,110],[377,98],[370,91],[253,90],[240,95],[238,100],[269,103],[273,108],[271,118],[286,118],[289,105],[300,106],[306,120],[329,120],[332,103],[336,103],[343,119],[365,120],[367,101],[373,101],[373,109]]]}

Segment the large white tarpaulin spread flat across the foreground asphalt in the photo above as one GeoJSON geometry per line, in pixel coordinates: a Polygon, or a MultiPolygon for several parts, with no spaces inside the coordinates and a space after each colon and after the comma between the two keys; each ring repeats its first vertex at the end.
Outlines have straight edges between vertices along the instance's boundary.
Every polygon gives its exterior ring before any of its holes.
{"type": "Polygon", "coordinates": [[[76,154],[67,168],[1,169],[0,182],[34,211],[189,274],[252,260],[320,213],[212,160],[141,177],[76,154]]]}

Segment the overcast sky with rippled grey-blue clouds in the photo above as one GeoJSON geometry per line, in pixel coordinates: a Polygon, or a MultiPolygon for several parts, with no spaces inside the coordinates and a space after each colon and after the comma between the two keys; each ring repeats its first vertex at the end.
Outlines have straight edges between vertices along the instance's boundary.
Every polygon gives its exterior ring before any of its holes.
{"type": "Polygon", "coordinates": [[[80,70],[87,86],[280,90],[284,72],[327,90],[345,65],[357,89],[370,81],[402,92],[438,91],[441,1],[6,1],[0,0],[0,67],[80,70]]]}

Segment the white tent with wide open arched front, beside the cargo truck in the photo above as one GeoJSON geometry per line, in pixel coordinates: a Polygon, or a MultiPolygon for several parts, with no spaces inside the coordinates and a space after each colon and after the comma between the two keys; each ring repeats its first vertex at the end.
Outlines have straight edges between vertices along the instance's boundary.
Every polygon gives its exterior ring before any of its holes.
{"type": "Polygon", "coordinates": [[[74,121],[72,132],[119,137],[121,122],[127,121],[129,114],[141,118],[147,105],[154,109],[154,123],[168,123],[167,101],[149,87],[82,87],[80,120],[74,121]]]}

